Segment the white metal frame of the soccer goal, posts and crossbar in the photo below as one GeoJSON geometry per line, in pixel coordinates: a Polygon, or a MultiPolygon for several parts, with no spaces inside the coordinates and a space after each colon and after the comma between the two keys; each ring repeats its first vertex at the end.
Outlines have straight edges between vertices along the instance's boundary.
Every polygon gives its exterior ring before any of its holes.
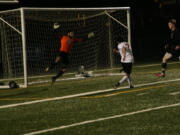
{"type": "MultiPolygon", "coordinates": [[[[14,1],[18,2],[18,1],[14,1]]],[[[0,2],[1,3],[1,2],[0,2]]],[[[128,43],[131,46],[131,28],[130,28],[130,7],[99,7],[99,8],[38,8],[38,7],[23,7],[23,8],[18,8],[18,9],[13,9],[13,10],[7,10],[7,11],[0,11],[1,13],[5,12],[13,12],[13,11],[20,11],[20,17],[21,17],[21,31],[16,30],[11,24],[0,18],[0,21],[3,21],[9,27],[17,31],[17,33],[21,34],[22,36],[22,49],[23,49],[23,69],[24,69],[24,84],[20,85],[20,87],[26,88],[28,86],[28,74],[27,74],[27,60],[26,60],[26,27],[25,27],[25,16],[24,16],[24,11],[25,10],[35,10],[35,11],[52,11],[52,10],[62,10],[62,11],[77,11],[77,10],[83,10],[83,11],[93,11],[93,10],[126,10],[127,11],[127,26],[124,24],[121,24],[118,20],[110,16],[108,13],[105,13],[107,16],[109,16],[110,19],[116,21],[117,23],[120,23],[123,27],[127,29],[128,32],[128,43]]],[[[110,49],[112,48],[112,45],[109,44],[110,49]]],[[[112,53],[111,50],[110,54],[112,53]]],[[[110,55],[111,57],[111,55],[110,55]]],[[[112,61],[112,58],[110,58],[112,61]]],[[[111,62],[111,68],[113,67],[113,64],[111,62]]],[[[8,86],[7,86],[8,87],[8,86]]],[[[1,88],[1,86],[0,86],[1,88]]],[[[6,88],[6,87],[3,87],[6,88]]]]}

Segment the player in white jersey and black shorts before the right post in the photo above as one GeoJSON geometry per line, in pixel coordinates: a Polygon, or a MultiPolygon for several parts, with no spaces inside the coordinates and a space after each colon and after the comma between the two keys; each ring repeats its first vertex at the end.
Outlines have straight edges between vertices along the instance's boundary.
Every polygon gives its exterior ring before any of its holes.
{"type": "Polygon", "coordinates": [[[121,83],[127,80],[129,83],[129,87],[134,88],[130,77],[132,64],[134,63],[132,48],[127,42],[118,41],[117,49],[113,49],[113,52],[121,55],[121,63],[123,71],[125,72],[125,76],[123,76],[122,79],[115,84],[115,87],[119,87],[121,83]]]}

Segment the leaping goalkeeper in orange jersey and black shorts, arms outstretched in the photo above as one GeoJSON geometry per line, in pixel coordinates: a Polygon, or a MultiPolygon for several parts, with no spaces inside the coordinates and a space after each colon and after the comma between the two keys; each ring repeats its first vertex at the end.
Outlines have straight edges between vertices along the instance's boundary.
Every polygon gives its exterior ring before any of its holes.
{"type": "MultiPolygon", "coordinates": [[[[55,23],[54,29],[57,31],[59,30],[59,28],[60,28],[60,25],[58,23],[55,23]]],[[[62,35],[62,36],[58,35],[58,38],[61,41],[59,53],[55,59],[55,62],[53,62],[49,67],[45,69],[45,71],[48,72],[49,70],[53,69],[59,62],[61,62],[63,65],[61,69],[59,70],[59,72],[57,73],[57,75],[52,77],[52,84],[56,81],[57,78],[62,76],[64,72],[67,71],[67,66],[69,65],[69,54],[71,53],[74,43],[81,43],[82,41],[89,39],[93,36],[94,36],[94,33],[91,32],[88,34],[87,37],[74,38],[73,31],[69,31],[67,35],[62,35]]]]}

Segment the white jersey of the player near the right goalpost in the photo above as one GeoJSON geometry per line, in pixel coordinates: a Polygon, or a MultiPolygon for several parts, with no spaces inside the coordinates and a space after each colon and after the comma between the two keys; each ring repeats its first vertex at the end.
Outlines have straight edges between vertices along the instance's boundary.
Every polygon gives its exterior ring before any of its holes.
{"type": "Polygon", "coordinates": [[[134,57],[132,53],[132,48],[127,42],[121,42],[118,44],[118,50],[121,55],[121,62],[122,63],[133,63],[134,62],[134,57]],[[123,47],[125,47],[126,52],[125,52],[125,59],[124,59],[124,54],[123,54],[123,47]]]}

